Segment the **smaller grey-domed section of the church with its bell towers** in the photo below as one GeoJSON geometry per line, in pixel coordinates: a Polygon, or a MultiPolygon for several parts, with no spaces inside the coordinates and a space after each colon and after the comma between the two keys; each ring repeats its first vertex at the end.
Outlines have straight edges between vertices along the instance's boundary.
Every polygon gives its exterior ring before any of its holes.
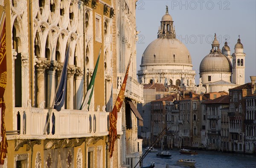
{"type": "Polygon", "coordinates": [[[222,50],[219,46],[215,34],[210,53],[200,63],[200,81],[207,93],[228,91],[229,88],[244,84],[244,58],[246,54],[243,53],[240,37],[232,56],[227,42],[225,42],[222,50]]]}

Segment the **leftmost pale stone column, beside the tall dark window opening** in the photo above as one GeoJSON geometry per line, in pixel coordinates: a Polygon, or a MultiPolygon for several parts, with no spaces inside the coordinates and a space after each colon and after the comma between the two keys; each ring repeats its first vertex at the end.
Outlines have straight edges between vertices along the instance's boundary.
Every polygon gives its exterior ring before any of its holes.
{"type": "Polygon", "coordinates": [[[21,91],[24,106],[29,100],[29,53],[21,53],[21,91]]]}

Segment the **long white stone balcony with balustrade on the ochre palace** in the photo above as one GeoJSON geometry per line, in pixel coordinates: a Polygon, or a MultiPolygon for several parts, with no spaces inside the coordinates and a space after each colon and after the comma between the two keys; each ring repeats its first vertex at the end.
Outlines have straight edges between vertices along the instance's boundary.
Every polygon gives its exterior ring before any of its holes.
{"type": "MultiPolygon", "coordinates": [[[[18,138],[60,139],[79,137],[101,137],[108,135],[109,113],[105,111],[52,110],[47,133],[44,134],[49,109],[14,109],[14,128],[20,128],[18,138]],[[20,114],[20,123],[17,114],[20,114]],[[55,133],[52,134],[52,115],[55,116],[55,133]],[[20,124],[18,126],[18,123],[20,124]]],[[[117,115],[117,134],[122,134],[122,113],[117,115]]],[[[9,131],[9,130],[6,130],[9,131]]]]}

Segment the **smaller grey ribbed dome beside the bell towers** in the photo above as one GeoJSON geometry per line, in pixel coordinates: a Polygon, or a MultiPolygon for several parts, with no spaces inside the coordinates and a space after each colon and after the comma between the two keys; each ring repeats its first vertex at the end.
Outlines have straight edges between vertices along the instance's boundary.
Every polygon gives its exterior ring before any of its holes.
{"type": "Polygon", "coordinates": [[[232,65],[230,60],[221,53],[210,53],[200,63],[200,74],[226,72],[232,72],[232,65]]]}

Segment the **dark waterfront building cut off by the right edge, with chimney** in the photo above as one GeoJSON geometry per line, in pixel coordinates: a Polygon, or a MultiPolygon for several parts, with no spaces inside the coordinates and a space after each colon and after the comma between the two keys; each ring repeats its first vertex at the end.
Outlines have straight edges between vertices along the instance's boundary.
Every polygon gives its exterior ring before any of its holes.
{"type": "Polygon", "coordinates": [[[251,94],[245,97],[245,153],[256,153],[256,77],[250,77],[252,81],[251,94]]]}

